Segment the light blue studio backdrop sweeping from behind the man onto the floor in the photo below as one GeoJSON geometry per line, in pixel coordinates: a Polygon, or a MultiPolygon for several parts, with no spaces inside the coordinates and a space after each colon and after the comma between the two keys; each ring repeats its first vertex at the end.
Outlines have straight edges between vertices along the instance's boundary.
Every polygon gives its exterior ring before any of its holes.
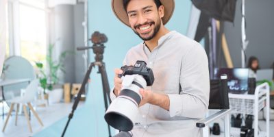
{"type": "MultiPolygon", "coordinates": [[[[186,34],[191,2],[175,0],[175,3],[175,12],[166,27],[186,34]]],[[[132,32],[132,29],[123,25],[114,16],[110,0],[88,1],[88,36],[91,36],[95,31],[99,31],[108,37],[108,42],[105,43],[103,62],[106,64],[108,80],[110,87],[112,87],[114,85],[114,69],[121,67],[127,50],[142,40],[132,32]]],[[[90,51],[90,62],[94,61],[94,55],[90,51]]],[[[75,111],[75,116],[67,129],[66,136],[108,136],[107,124],[103,119],[105,108],[101,75],[97,71],[98,67],[92,70],[86,104],[84,108],[75,111]]],[[[65,117],[36,136],[60,136],[66,120],[65,117]]],[[[112,133],[114,133],[113,131],[112,129],[112,133]]]]}

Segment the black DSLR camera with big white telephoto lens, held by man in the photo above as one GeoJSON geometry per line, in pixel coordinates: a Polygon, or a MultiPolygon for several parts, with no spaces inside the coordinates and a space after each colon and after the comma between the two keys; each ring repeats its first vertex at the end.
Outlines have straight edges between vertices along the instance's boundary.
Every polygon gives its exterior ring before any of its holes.
{"type": "Polygon", "coordinates": [[[138,60],[134,66],[122,66],[123,88],[105,112],[105,121],[115,129],[127,132],[132,130],[139,103],[142,100],[140,88],[151,86],[154,82],[152,69],[146,62],[138,60]]]}

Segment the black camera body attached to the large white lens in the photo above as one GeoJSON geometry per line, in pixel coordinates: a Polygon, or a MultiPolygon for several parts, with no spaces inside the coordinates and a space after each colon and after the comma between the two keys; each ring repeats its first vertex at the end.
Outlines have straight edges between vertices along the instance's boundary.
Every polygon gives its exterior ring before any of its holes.
{"type": "Polygon", "coordinates": [[[138,74],[144,77],[145,81],[147,82],[147,86],[151,86],[154,82],[152,69],[148,68],[147,63],[142,60],[137,60],[134,66],[122,66],[121,70],[123,70],[123,73],[119,75],[119,77],[138,74]]]}

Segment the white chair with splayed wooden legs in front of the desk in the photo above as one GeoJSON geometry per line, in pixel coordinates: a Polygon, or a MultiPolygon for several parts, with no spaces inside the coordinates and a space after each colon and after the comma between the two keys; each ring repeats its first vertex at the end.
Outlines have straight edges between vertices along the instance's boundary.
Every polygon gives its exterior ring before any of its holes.
{"type": "Polygon", "coordinates": [[[3,130],[2,130],[3,132],[5,131],[5,126],[8,123],[8,120],[10,118],[10,115],[12,114],[12,110],[13,110],[15,104],[17,104],[15,125],[17,125],[18,108],[19,108],[19,105],[22,104],[23,110],[25,113],[25,118],[27,119],[27,125],[29,126],[30,132],[32,132],[32,126],[30,125],[29,115],[27,113],[27,106],[29,107],[30,110],[32,110],[32,112],[34,113],[34,116],[36,116],[36,119],[38,119],[40,125],[43,126],[42,121],[40,120],[38,114],[36,113],[36,111],[34,110],[34,108],[32,107],[32,104],[31,104],[31,102],[34,101],[34,99],[36,97],[36,92],[38,90],[38,84],[39,84],[38,79],[34,79],[32,82],[30,82],[30,84],[25,89],[25,95],[23,95],[23,97],[15,97],[14,99],[7,100],[7,102],[11,103],[11,105],[10,105],[10,111],[8,112],[7,119],[5,120],[5,125],[3,126],[3,130]]]}

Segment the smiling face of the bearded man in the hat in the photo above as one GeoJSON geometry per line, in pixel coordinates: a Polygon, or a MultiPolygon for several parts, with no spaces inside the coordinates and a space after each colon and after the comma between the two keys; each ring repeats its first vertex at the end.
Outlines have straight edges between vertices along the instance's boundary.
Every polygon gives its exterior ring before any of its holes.
{"type": "Polygon", "coordinates": [[[159,31],[164,6],[158,9],[153,0],[131,0],[127,5],[130,27],[142,40],[151,40],[159,31]]]}

